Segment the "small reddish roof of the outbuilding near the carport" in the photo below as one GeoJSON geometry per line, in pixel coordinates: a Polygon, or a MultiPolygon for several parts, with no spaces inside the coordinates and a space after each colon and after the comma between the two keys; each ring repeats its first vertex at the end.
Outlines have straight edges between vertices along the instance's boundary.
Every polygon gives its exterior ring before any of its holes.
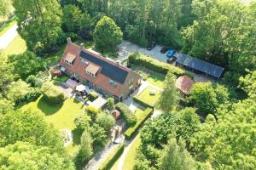
{"type": "Polygon", "coordinates": [[[180,91],[182,91],[183,94],[188,95],[194,83],[195,82],[191,78],[187,76],[181,76],[181,77],[178,77],[176,80],[176,87],[180,89],[180,91]]]}

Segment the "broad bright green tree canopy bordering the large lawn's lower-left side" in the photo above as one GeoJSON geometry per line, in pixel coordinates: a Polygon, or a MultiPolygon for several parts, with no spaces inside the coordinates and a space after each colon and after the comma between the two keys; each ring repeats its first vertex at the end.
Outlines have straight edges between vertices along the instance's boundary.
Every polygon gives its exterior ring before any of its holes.
{"type": "Polygon", "coordinates": [[[0,147],[23,141],[47,146],[58,153],[63,150],[59,133],[53,127],[49,127],[38,112],[11,111],[1,117],[0,124],[0,147]]]}

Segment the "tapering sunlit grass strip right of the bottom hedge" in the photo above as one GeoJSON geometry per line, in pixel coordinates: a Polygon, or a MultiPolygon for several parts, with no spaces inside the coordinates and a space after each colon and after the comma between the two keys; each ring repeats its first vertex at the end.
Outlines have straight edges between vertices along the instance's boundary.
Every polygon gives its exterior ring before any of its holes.
{"type": "Polygon", "coordinates": [[[137,149],[141,144],[141,138],[139,135],[134,139],[133,143],[131,144],[130,150],[128,150],[127,155],[125,156],[124,164],[122,169],[125,170],[132,170],[135,162],[136,162],[136,154],[137,154],[137,149]]]}

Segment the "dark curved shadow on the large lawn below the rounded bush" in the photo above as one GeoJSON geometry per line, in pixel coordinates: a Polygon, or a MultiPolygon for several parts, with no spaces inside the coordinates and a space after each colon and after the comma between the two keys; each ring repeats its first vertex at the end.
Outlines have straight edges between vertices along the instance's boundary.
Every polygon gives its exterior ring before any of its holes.
{"type": "Polygon", "coordinates": [[[43,98],[38,101],[38,109],[41,110],[45,116],[55,114],[62,107],[63,103],[59,105],[49,105],[43,98]]]}

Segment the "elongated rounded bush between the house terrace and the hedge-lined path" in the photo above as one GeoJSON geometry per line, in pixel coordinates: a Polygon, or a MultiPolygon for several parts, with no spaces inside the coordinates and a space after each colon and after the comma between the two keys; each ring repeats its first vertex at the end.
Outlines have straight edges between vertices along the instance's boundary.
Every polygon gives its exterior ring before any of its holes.
{"type": "Polygon", "coordinates": [[[116,110],[120,111],[128,126],[136,124],[136,116],[131,113],[130,109],[125,104],[119,102],[117,105],[115,105],[115,108],[116,110]]]}

